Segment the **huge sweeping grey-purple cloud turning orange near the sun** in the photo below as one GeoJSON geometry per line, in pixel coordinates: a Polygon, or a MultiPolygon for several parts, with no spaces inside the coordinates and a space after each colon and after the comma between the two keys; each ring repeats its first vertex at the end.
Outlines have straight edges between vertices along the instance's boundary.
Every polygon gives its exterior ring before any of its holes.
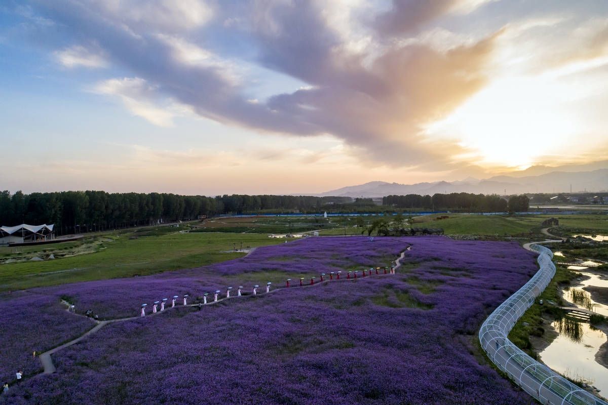
{"type": "MultiPolygon", "coordinates": [[[[519,18],[513,9],[486,24],[486,9],[511,7],[490,2],[46,0],[32,7],[72,43],[98,49],[58,51],[64,66],[94,66],[97,55],[126,72],[95,91],[153,124],[196,114],[260,133],[331,134],[368,165],[441,171],[469,165],[475,151],[457,134],[438,140],[426,129],[488,87],[496,72],[534,63],[547,70],[551,55],[565,66],[606,52],[601,18],[586,28],[567,13],[519,18]],[[544,46],[556,32],[579,39],[564,41],[567,52],[544,46]],[[252,65],[270,72],[268,81],[276,73],[307,86],[260,97],[252,65]]],[[[302,158],[315,156],[325,158],[302,158]]]]}

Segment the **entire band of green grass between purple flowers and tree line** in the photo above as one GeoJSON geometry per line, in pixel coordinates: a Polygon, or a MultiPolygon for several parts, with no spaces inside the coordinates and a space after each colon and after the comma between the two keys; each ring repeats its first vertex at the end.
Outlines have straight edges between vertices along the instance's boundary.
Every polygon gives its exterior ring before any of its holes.
{"type": "MultiPolygon", "coordinates": [[[[466,214],[433,214],[417,217],[413,227],[443,228],[446,234],[496,235],[539,233],[542,221],[557,217],[565,230],[592,230],[596,234],[608,234],[608,216],[603,214],[580,215],[466,215],[466,214]],[[448,219],[435,220],[439,216],[448,219]]],[[[369,216],[366,222],[382,218],[389,222],[393,216],[369,216]]],[[[233,250],[233,242],[243,242],[243,247],[258,247],[285,243],[285,239],[274,239],[262,230],[282,231],[313,226],[321,222],[325,226],[336,228],[319,230],[320,235],[360,235],[362,228],[342,225],[354,223],[353,218],[331,218],[330,220],[292,219],[276,217],[216,219],[204,224],[180,224],[179,228],[170,226],[153,226],[136,231],[119,233],[88,234],[77,242],[64,242],[36,247],[7,248],[0,247],[0,259],[30,259],[38,256],[46,258],[53,253],[55,260],[33,262],[30,260],[0,265],[0,291],[19,290],[43,285],[64,284],[67,282],[109,279],[162,273],[163,271],[181,270],[200,267],[224,260],[243,256],[243,253],[220,253],[233,250]],[[207,226],[202,232],[194,231],[207,226]],[[257,233],[236,233],[241,228],[256,228],[257,233]],[[130,239],[137,237],[137,239],[130,239]],[[61,257],[63,256],[63,257],[61,257]],[[44,274],[46,273],[46,274],[44,274]]],[[[404,225],[407,227],[407,225],[404,225]]],[[[276,232],[278,233],[278,232],[276,232]]],[[[365,233],[367,234],[367,232],[365,233]]]]}

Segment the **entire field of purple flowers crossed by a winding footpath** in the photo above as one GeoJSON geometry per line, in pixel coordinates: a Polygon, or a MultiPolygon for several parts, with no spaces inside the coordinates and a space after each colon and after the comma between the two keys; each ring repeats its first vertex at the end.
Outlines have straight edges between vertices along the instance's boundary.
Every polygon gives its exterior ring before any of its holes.
{"type": "MultiPolygon", "coordinates": [[[[79,311],[133,316],[140,304],[173,295],[389,265],[409,245],[395,275],[342,277],[107,325],[56,353],[57,373],[28,378],[4,401],[530,404],[472,354],[485,316],[536,271],[534,255],[514,243],[314,238],[193,270],[5,294],[1,304],[36,294],[61,308],[69,295],[79,311]]],[[[74,328],[86,321],[61,309],[57,320],[74,328]]],[[[29,329],[8,325],[3,337],[33,339],[43,329],[36,317],[24,321],[29,329]]]]}

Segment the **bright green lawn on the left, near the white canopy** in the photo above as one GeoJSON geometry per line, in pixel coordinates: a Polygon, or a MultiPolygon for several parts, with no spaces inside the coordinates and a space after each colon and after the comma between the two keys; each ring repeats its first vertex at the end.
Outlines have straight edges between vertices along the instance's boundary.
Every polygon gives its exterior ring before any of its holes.
{"type": "MultiPolygon", "coordinates": [[[[200,267],[244,256],[244,253],[221,253],[232,251],[233,242],[238,242],[237,248],[243,242],[244,248],[275,245],[286,240],[263,234],[178,233],[130,239],[133,235],[137,236],[137,233],[118,237],[105,234],[78,242],[86,245],[101,241],[96,243],[94,253],[90,254],[4,264],[0,267],[0,291],[200,267]]],[[[44,248],[61,248],[58,245],[44,245],[44,248]]]]}

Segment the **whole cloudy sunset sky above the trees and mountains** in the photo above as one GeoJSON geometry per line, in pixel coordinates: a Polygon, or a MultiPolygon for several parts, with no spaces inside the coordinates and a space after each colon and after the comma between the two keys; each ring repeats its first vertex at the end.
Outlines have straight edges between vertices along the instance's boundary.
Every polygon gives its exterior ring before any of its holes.
{"type": "Polygon", "coordinates": [[[4,0],[0,95],[12,192],[313,194],[600,162],[608,2],[4,0]]]}

